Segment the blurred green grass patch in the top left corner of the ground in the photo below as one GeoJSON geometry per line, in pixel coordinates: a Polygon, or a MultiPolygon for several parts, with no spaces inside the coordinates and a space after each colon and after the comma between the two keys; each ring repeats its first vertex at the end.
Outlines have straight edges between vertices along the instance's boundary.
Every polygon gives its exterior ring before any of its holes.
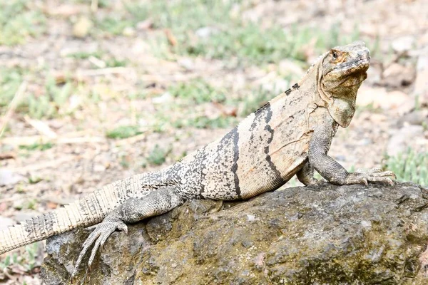
{"type": "Polygon", "coordinates": [[[46,17],[31,0],[0,1],[0,45],[24,43],[45,31],[46,17]]]}

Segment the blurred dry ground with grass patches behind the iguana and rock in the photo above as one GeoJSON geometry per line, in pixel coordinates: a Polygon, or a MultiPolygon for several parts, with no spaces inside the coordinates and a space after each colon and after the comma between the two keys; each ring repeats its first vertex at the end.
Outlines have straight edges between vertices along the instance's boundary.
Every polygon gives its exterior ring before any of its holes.
{"type": "MultiPolygon", "coordinates": [[[[0,1],[0,229],[170,165],[355,40],[369,77],[330,155],[428,185],[426,0],[0,1]]],[[[43,255],[4,254],[0,283],[40,284],[43,255]]]]}

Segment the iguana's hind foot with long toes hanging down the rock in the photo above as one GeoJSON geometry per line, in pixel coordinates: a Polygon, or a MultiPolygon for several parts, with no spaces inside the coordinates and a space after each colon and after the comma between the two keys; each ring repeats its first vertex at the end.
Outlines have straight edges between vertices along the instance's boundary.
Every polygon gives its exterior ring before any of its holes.
{"type": "Polygon", "coordinates": [[[104,243],[110,237],[110,235],[118,229],[119,231],[123,231],[126,234],[128,234],[128,227],[126,227],[126,224],[122,222],[121,219],[118,219],[116,217],[106,217],[101,224],[98,224],[89,234],[89,237],[86,239],[86,241],[83,243],[83,249],[81,253],[78,255],[78,259],[76,261],[76,264],[74,266],[73,274],[71,274],[71,277],[76,275],[78,266],[81,264],[81,261],[83,257],[85,256],[86,252],[88,252],[89,247],[95,242],[93,245],[93,249],[91,252],[91,257],[89,257],[88,261],[88,269],[91,270],[91,264],[93,259],[95,258],[95,254],[99,247],[103,247],[104,243]]]}

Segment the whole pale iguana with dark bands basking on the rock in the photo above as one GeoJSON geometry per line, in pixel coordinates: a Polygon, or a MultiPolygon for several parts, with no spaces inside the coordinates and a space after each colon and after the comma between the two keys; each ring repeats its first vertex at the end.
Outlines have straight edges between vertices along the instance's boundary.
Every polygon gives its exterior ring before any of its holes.
{"type": "Polygon", "coordinates": [[[126,223],[163,214],[186,199],[248,199],[276,190],[293,175],[305,185],[314,170],[337,185],[393,184],[391,171],[347,172],[327,155],[337,128],[346,128],[367,78],[370,52],[362,41],[320,56],[292,88],[248,115],[229,133],[163,170],[106,185],[78,202],[27,219],[0,232],[0,254],[11,249],[98,224],[83,244],[73,274],[93,245],[99,247],[126,223]]]}

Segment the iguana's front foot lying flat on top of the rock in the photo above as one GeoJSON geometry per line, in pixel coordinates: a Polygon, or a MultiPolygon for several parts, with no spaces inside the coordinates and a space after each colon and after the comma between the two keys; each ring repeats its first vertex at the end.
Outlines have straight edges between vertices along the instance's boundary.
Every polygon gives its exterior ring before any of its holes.
{"type": "Polygon", "coordinates": [[[350,173],[346,178],[346,184],[364,184],[369,185],[368,182],[385,182],[389,185],[394,185],[394,180],[397,177],[392,171],[382,171],[380,168],[372,168],[371,170],[357,170],[357,172],[350,173]]]}

